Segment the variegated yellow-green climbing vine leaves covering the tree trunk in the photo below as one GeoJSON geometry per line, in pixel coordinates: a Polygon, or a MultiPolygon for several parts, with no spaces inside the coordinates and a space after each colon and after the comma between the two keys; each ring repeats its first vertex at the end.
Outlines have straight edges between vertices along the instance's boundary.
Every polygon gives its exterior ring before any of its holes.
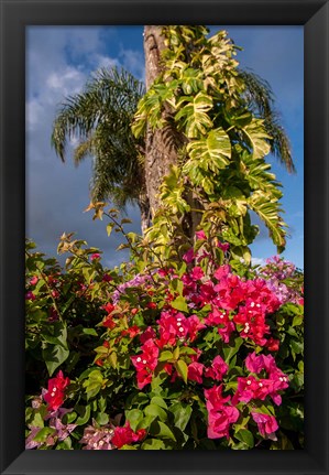
{"type": "MultiPolygon", "coordinates": [[[[252,90],[257,83],[254,76],[239,75],[238,62],[233,60],[237,46],[226,32],[212,37],[207,33],[201,26],[163,28],[167,46],[163,52],[164,71],[143,96],[135,114],[132,126],[135,137],[145,133],[146,123],[153,128],[171,123],[186,139],[180,151],[183,166],[173,168],[161,187],[166,215],[160,209],[154,216],[150,239],[165,246],[177,233],[190,237],[190,230],[186,229],[188,216],[204,228],[210,217],[208,209],[213,213],[217,205],[219,213],[216,219],[212,216],[217,230],[227,233],[226,239],[237,258],[250,261],[248,246],[257,233],[250,223],[250,210],[265,223],[278,252],[285,247],[279,183],[267,172],[271,166],[265,162],[272,138],[266,121],[256,116],[248,100],[250,95],[245,95],[251,89],[243,79],[252,80],[252,90]],[[167,119],[164,110],[169,111],[167,119]],[[190,194],[199,205],[197,218],[193,216],[190,194]]],[[[259,100],[261,86],[257,86],[259,100]]],[[[267,115],[270,102],[266,96],[262,110],[267,115]]]]}

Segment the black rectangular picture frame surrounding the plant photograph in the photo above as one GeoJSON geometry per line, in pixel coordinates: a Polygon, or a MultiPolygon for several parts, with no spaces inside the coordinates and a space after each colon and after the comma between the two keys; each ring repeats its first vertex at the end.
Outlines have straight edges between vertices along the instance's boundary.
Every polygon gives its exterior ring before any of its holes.
{"type": "Polygon", "coordinates": [[[328,474],[328,1],[1,0],[0,4],[1,474],[328,474]],[[219,453],[24,451],[25,26],[168,23],[304,25],[306,447],[219,453]]]}

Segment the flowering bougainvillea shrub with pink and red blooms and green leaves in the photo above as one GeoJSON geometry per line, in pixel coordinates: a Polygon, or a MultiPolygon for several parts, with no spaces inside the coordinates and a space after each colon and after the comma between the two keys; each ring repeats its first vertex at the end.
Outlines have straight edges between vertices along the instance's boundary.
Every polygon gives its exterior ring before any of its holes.
{"type": "Polygon", "coordinates": [[[65,269],[26,244],[26,449],[303,449],[303,273],[124,236],[111,270],[73,235],[65,269]]]}

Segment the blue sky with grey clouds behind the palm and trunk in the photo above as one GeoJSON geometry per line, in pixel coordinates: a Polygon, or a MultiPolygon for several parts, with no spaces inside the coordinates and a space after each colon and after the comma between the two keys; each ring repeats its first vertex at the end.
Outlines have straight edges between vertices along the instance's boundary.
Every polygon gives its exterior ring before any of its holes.
{"type": "MultiPolygon", "coordinates": [[[[284,219],[289,226],[284,257],[304,268],[304,32],[303,26],[211,26],[224,29],[243,47],[237,56],[266,79],[274,91],[282,123],[289,137],[297,173],[270,158],[283,184],[284,219]]],[[[91,162],[64,165],[51,148],[52,125],[65,96],[83,90],[100,67],[123,66],[144,78],[142,26],[29,26],[26,29],[26,236],[56,255],[59,236],[75,231],[103,251],[107,266],[127,256],[116,252],[119,236],[107,237],[106,223],[84,213],[89,204],[91,162]]],[[[74,143],[73,143],[74,144],[74,143]]],[[[139,212],[128,209],[139,231],[139,212]]],[[[261,227],[252,246],[255,262],[276,253],[261,227]]]]}

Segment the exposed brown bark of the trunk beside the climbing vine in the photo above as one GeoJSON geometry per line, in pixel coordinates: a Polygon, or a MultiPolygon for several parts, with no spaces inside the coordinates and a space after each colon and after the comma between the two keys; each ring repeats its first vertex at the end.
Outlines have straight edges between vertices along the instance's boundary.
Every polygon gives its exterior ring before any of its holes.
{"type": "MultiPolygon", "coordinates": [[[[146,89],[162,71],[161,52],[164,40],[161,36],[162,26],[146,25],[144,28],[145,79],[146,89]]],[[[164,111],[164,116],[169,112],[164,111]]],[[[145,177],[150,199],[151,216],[160,206],[158,187],[163,177],[169,173],[171,165],[177,163],[177,147],[175,134],[169,127],[151,130],[147,126],[145,140],[145,177]]]]}

